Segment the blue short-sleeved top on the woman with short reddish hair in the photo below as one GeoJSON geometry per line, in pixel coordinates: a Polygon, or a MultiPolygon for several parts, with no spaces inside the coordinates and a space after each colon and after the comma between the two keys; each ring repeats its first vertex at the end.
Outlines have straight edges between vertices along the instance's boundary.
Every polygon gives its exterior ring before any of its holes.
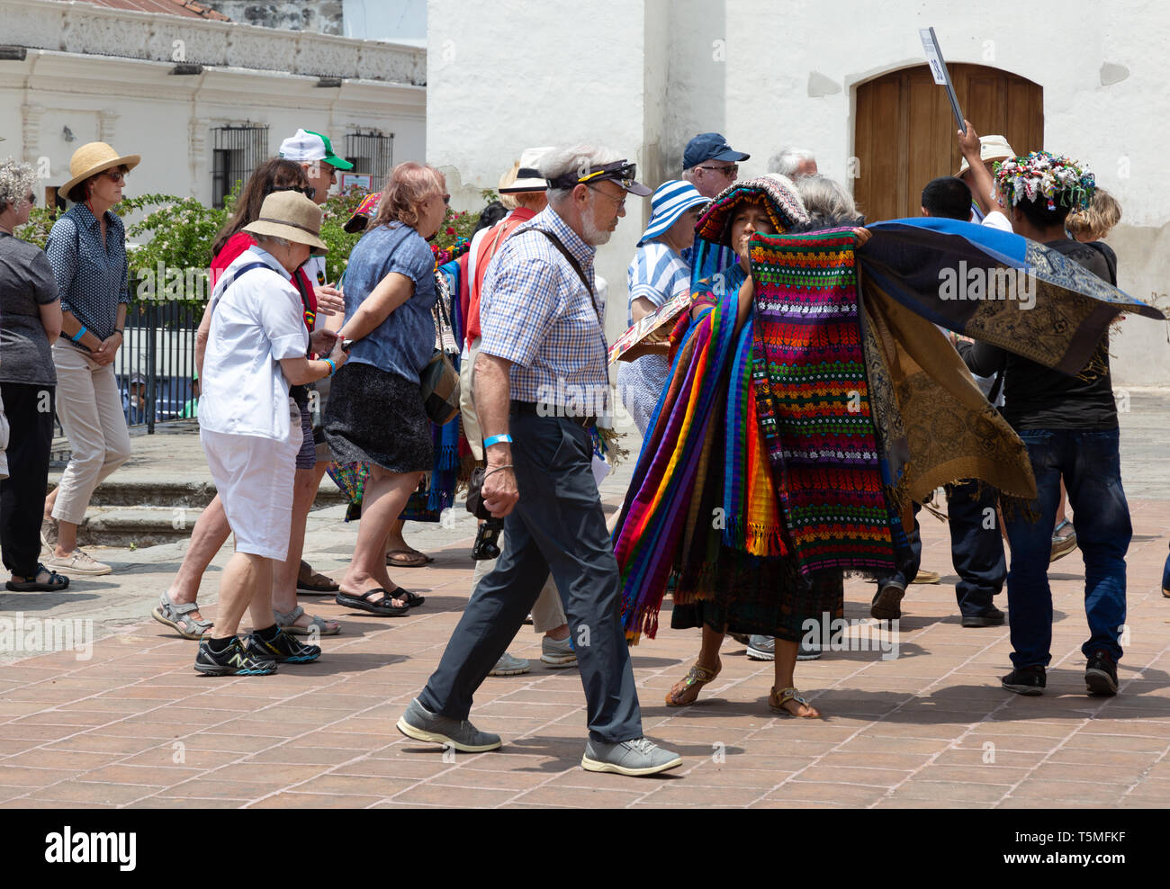
{"type": "Polygon", "coordinates": [[[435,257],[410,226],[391,222],[366,232],[345,269],[345,321],[357,312],[386,275],[397,271],[414,282],[411,298],[369,335],[353,343],[350,360],[371,364],[413,383],[435,347],[435,257]]]}

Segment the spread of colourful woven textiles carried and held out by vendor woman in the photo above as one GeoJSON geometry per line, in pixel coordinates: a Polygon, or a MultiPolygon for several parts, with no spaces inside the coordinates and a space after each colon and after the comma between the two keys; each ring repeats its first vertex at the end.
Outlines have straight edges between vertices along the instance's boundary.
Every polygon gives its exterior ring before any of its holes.
{"type": "Polygon", "coordinates": [[[614,530],[632,642],[655,634],[672,576],[680,604],[738,601],[749,585],[791,598],[799,578],[885,568],[900,514],[938,484],[1034,496],[1023,442],[935,324],[1075,373],[1119,311],[1163,317],[1014,234],[934,219],[870,229],[856,250],[841,230],[756,235],[739,335],[730,288],[675,329],[614,530]],[[949,269],[990,287],[951,298],[949,269]],[[1033,301],[1010,298],[1006,269],[1032,273],[1033,301]]]}

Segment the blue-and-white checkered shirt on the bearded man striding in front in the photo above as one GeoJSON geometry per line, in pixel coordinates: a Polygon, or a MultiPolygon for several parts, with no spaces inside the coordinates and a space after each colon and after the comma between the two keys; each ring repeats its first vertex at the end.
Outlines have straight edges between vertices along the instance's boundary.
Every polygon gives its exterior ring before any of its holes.
{"type": "Polygon", "coordinates": [[[512,363],[511,398],[603,414],[610,394],[605,302],[590,297],[569,261],[534,228],[557,235],[597,291],[596,249],[552,207],[544,209],[504,241],[488,267],[480,351],[512,363]]]}

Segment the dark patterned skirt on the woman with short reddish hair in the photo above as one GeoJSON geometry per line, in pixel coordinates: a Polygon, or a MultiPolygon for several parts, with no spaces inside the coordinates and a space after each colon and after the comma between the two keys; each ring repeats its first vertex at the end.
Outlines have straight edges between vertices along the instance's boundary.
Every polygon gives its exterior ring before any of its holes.
{"type": "Polygon", "coordinates": [[[391,473],[426,473],[434,464],[419,384],[372,364],[347,361],[337,371],[322,428],[338,463],[391,473]]]}

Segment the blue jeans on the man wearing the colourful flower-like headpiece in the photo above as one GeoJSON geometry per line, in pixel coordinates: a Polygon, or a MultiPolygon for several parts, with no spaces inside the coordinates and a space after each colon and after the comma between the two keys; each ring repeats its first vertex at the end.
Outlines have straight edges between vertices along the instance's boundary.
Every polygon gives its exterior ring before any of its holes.
{"type": "Polygon", "coordinates": [[[1007,510],[1007,609],[1011,622],[1012,663],[1048,666],[1052,660],[1052,588],[1048,559],[1052,526],[1065,477],[1073,508],[1076,543],[1085,557],[1085,615],[1089,639],[1081,652],[1106,652],[1121,659],[1121,628],[1126,622],[1126,551],[1134,529],[1121,487],[1117,429],[1025,429],[1035,475],[1038,497],[1031,508],[1040,515],[1028,522],[1018,510],[1007,510]]]}

